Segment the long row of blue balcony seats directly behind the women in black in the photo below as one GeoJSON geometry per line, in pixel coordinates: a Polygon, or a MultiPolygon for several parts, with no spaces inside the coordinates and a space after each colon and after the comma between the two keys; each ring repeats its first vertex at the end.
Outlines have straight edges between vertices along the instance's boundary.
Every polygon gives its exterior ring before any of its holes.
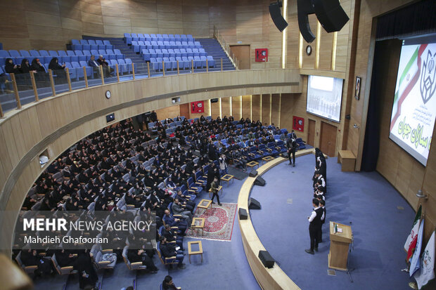
{"type": "Polygon", "coordinates": [[[106,60],[120,60],[124,59],[124,54],[119,49],[100,49],[98,51],[0,51],[0,63],[4,63],[6,58],[12,58],[14,63],[20,64],[21,61],[27,58],[30,62],[32,59],[39,58],[41,63],[50,62],[52,58],[58,58],[60,63],[73,62],[80,60],[89,60],[91,55],[103,55],[106,60]]]}

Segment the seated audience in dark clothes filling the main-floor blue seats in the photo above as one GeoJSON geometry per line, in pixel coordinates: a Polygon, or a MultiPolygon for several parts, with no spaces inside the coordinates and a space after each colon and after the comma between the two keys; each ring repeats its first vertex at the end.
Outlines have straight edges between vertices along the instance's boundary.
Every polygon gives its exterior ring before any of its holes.
{"type": "MultiPolygon", "coordinates": [[[[260,121],[248,118],[235,121],[233,117],[175,117],[148,123],[148,131],[136,130],[132,121],[125,120],[80,140],[46,167],[28,192],[23,210],[56,214],[87,209],[91,216],[95,211],[116,211],[126,215],[126,219],[139,220],[146,218],[150,209],[156,212],[156,237],[159,237],[165,225],[164,211],[169,209],[172,215],[176,197],[195,202],[198,193],[209,190],[205,177],[211,172],[212,176],[217,174],[220,154],[226,154],[230,164],[235,150],[248,152],[248,160],[277,156],[286,151],[283,140],[288,138],[286,128],[262,126],[260,121]],[[160,200],[160,204],[155,200],[160,200]]],[[[84,215],[85,220],[91,218],[88,213],[84,215]]],[[[183,227],[176,225],[175,229],[177,241],[183,243],[183,227]]],[[[19,230],[15,232],[15,235],[23,234],[19,230]]],[[[100,232],[98,237],[103,235],[117,233],[100,232]]],[[[129,270],[148,269],[143,263],[129,259],[129,245],[132,247],[129,239],[134,236],[132,232],[119,237],[117,249],[105,249],[104,244],[90,245],[94,268],[113,269],[118,259],[129,270]],[[104,253],[113,253],[117,258],[113,256],[106,261],[104,253]]],[[[150,244],[164,265],[181,263],[175,256],[174,259],[163,257],[160,242],[150,241],[150,244]]],[[[21,253],[15,251],[16,260],[27,269],[28,265],[20,260],[21,253]]],[[[47,251],[44,259],[53,261],[59,275],[74,274],[76,266],[58,265],[55,254],[60,252],[47,251]]],[[[28,268],[27,273],[32,274],[35,269],[28,268]]]]}

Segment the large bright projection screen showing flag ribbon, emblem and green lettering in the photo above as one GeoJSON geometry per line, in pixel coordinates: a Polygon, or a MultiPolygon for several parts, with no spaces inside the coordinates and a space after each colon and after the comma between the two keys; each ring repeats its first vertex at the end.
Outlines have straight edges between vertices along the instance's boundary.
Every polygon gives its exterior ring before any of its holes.
{"type": "Polygon", "coordinates": [[[402,46],[390,138],[427,163],[436,115],[436,44],[402,46]]]}

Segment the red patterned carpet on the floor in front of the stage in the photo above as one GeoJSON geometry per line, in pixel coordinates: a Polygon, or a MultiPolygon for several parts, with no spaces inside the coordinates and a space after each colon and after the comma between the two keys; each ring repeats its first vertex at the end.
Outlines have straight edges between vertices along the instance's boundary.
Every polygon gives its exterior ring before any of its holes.
{"type": "Polygon", "coordinates": [[[203,235],[201,230],[188,230],[188,237],[198,239],[219,239],[222,241],[230,241],[231,233],[233,232],[233,222],[235,220],[236,209],[238,204],[212,204],[212,209],[203,209],[195,211],[194,218],[205,218],[205,228],[203,235]]]}

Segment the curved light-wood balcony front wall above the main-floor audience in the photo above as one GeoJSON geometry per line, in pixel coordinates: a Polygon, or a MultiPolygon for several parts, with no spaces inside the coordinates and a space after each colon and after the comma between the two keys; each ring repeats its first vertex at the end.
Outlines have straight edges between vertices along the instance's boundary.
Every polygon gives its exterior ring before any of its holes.
{"type": "MultiPolygon", "coordinates": [[[[0,120],[0,211],[21,208],[27,191],[43,171],[38,159],[41,152],[47,150],[53,161],[77,140],[107,126],[107,114],[114,112],[115,120],[120,121],[171,107],[174,96],[188,103],[223,95],[301,93],[301,84],[298,70],[184,74],[73,91],[8,112],[6,119],[0,120]],[[109,100],[106,90],[113,95],[109,100]]],[[[10,244],[10,230],[1,231],[0,242],[10,244]]]]}

